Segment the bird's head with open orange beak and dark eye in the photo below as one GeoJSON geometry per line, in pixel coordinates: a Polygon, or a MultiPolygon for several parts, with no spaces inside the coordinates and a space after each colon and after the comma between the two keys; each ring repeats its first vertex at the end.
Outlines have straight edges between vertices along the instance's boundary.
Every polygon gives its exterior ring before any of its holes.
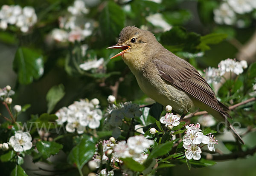
{"type": "Polygon", "coordinates": [[[126,63],[136,63],[138,60],[145,60],[154,50],[154,45],[158,42],[150,31],[142,30],[135,26],[127,26],[119,34],[119,40],[116,45],[108,48],[122,49],[115,56],[122,56],[126,63]]]}

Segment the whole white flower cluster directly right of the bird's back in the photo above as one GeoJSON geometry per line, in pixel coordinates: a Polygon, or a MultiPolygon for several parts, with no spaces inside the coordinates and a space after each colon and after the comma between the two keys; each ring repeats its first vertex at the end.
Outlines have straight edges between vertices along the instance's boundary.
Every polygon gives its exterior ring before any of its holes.
{"type": "Polygon", "coordinates": [[[218,68],[212,68],[209,67],[205,72],[204,78],[207,80],[207,82],[210,83],[218,83],[221,81],[221,76],[223,76],[225,73],[235,73],[237,75],[243,73],[244,68],[247,68],[247,62],[245,60],[242,61],[236,61],[235,59],[226,59],[222,60],[218,64],[218,68]]]}

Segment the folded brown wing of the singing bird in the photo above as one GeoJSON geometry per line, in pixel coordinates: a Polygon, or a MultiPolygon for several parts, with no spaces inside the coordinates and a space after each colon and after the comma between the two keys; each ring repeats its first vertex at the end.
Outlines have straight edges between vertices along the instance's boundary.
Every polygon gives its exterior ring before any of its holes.
{"type": "MultiPolygon", "coordinates": [[[[205,103],[221,114],[229,116],[229,114],[227,114],[227,112],[221,108],[221,105],[218,103],[215,93],[210,85],[192,65],[174,54],[169,55],[169,57],[176,57],[176,61],[170,60],[169,58],[155,58],[153,61],[159,71],[160,76],[164,80],[176,88],[186,92],[195,99],[205,103]],[[176,62],[176,67],[174,62],[176,62]]],[[[229,117],[231,118],[231,116],[229,117]]]]}

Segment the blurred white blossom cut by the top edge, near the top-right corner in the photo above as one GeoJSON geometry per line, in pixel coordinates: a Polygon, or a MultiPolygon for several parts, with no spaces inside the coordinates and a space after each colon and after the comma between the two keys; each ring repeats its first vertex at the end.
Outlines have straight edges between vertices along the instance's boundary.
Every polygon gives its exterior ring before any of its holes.
{"type": "Polygon", "coordinates": [[[227,3],[238,14],[245,14],[253,10],[253,6],[250,4],[253,0],[227,0],[227,3]]]}

